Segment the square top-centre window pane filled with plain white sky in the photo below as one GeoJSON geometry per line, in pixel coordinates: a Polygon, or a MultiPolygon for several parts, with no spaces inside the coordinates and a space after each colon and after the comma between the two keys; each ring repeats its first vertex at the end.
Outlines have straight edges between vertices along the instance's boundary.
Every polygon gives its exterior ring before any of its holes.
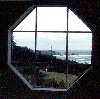
{"type": "Polygon", "coordinates": [[[67,7],[38,7],[38,31],[66,31],[67,7]]]}

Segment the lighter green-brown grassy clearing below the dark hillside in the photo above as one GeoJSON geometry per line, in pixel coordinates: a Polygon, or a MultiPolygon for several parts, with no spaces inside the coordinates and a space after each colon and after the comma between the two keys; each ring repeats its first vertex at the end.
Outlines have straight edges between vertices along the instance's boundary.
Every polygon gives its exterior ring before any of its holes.
{"type": "MultiPolygon", "coordinates": [[[[64,82],[64,85],[66,85],[66,74],[64,73],[57,73],[57,72],[44,72],[44,80],[47,83],[51,83],[53,81],[56,81],[57,83],[64,82]]],[[[67,87],[69,87],[76,79],[78,76],[68,74],[68,79],[67,79],[67,87]]]]}

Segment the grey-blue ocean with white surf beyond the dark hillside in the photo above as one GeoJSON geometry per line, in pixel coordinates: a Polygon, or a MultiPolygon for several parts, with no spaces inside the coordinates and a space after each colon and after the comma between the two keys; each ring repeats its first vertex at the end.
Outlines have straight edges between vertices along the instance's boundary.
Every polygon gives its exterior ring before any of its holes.
{"type": "MultiPolygon", "coordinates": [[[[66,55],[64,50],[59,50],[57,52],[60,52],[61,55],[53,55],[58,59],[65,60],[66,55]]],[[[90,50],[69,50],[69,55],[68,59],[76,61],[78,63],[83,63],[83,64],[91,64],[91,51],[90,50]],[[74,54],[72,54],[74,53],[74,54]]]]}

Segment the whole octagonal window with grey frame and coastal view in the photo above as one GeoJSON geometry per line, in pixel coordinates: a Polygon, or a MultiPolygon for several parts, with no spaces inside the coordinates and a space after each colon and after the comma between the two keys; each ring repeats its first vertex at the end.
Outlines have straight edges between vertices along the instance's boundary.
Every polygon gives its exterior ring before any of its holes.
{"type": "Polygon", "coordinates": [[[91,67],[91,30],[67,7],[23,16],[9,29],[10,68],[32,90],[67,91],[91,67]]]}

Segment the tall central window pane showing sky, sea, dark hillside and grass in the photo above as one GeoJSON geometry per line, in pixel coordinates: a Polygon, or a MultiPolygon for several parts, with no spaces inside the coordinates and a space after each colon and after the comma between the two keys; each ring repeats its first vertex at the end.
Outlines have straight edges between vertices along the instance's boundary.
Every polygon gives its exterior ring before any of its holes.
{"type": "Polygon", "coordinates": [[[39,75],[38,86],[65,88],[65,48],[66,33],[37,33],[37,63],[43,75],[39,75]]]}

